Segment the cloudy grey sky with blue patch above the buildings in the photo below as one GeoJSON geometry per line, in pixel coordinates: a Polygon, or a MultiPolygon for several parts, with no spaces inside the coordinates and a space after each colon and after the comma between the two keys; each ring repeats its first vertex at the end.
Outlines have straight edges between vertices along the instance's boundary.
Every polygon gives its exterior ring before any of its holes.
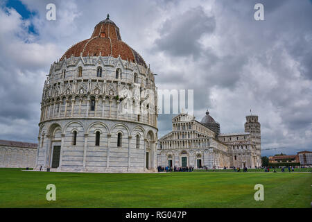
{"type": "MultiPolygon", "coordinates": [[[[222,133],[259,115],[262,155],[312,150],[312,1],[0,1],[0,139],[37,142],[51,63],[106,18],[153,69],[159,89],[194,89],[222,133]],[[56,20],[46,20],[55,3],[56,20]],[[264,21],[254,19],[263,3],[264,21]]],[[[159,137],[171,114],[158,119],[159,137]]]]}

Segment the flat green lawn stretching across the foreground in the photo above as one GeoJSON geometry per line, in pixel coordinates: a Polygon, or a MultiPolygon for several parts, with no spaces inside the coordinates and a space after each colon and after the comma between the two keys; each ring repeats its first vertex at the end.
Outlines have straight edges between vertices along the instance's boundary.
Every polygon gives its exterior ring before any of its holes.
{"type": "Polygon", "coordinates": [[[312,173],[53,173],[0,169],[0,207],[310,207],[312,173]],[[46,200],[46,185],[56,200],[46,200]],[[254,185],[264,200],[254,200],[254,185]]]}

